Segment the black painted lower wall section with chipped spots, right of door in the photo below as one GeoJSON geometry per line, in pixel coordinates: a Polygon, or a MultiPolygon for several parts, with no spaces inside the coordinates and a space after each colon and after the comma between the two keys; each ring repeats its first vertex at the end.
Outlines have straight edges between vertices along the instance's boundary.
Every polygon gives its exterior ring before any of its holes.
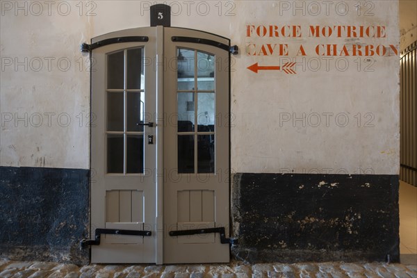
{"type": "Polygon", "coordinates": [[[232,247],[254,262],[400,259],[398,176],[236,174],[232,247]]]}

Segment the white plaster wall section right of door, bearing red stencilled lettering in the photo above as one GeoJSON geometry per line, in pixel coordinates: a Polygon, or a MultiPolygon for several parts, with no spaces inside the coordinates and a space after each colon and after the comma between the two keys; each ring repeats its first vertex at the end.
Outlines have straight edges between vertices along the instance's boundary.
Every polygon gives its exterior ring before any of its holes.
{"type": "MultiPolygon", "coordinates": [[[[331,8],[328,17],[314,17],[301,13],[294,16],[292,11],[278,16],[279,2],[274,1],[238,2],[237,21],[231,28],[232,41],[238,42],[243,50],[236,58],[232,74],[232,112],[236,120],[231,146],[232,167],[236,172],[398,173],[398,56],[375,58],[373,72],[358,71],[356,58],[347,58],[350,67],[345,72],[336,70],[332,62],[329,72],[324,63],[317,72],[297,67],[297,74],[293,75],[273,71],[254,74],[246,69],[256,62],[275,65],[279,61],[279,57],[245,55],[244,42],[272,42],[269,38],[246,38],[246,24],[385,25],[387,38],[378,42],[398,44],[398,3],[373,3],[374,16],[358,17],[354,10],[352,16],[337,16],[331,8]],[[302,122],[283,121],[288,114],[294,119],[303,113],[307,119],[305,126],[302,122]],[[308,121],[309,115],[315,113],[332,113],[335,117],[330,117],[327,126],[322,116],[322,124],[316,126],[313,118],[310,124],[308,121]],[[347,115],[347,126],[335,121],[339,113],[347,115]],[[354,117],[358,113],[361,124],[354,117]],[[370,124],[373,127],[364,127],[366,113],[374,118],[370,124]]],[[[373,44],[376,40],[355,42],[373,44]]],[[[300,43],[312,49],[320,43],[349,42],[352,40],[343,38],[281,39],[290,49],[297,49],[300,43]]],[[[293,51],[289,56],[295,55],[293,51]]],[[[307,53],[307,59],[312,57],[316,56],[307,53]]]]}

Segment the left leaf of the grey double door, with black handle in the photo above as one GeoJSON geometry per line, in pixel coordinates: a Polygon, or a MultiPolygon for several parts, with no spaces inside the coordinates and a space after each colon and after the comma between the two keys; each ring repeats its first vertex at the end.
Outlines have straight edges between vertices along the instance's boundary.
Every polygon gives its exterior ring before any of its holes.
{"type": "MultiPolygon", "coordinates": [[[[126,31],[123,34],[129,35],[126,31]]],[[[95,229],[152,231],[156,226],[154,127],[142,126],[156,108],[155,80],[147,57],[156,56],[156,28],[137,30],[148,42],[109,44],[92,51],[91,232],[95,229]]],[[[137,34],[138,35],[138,34],[137,34]]],[[[108,34],[96,41],[114,38],[108,34]]],[[[94,41],[93,41],[94,42],[94,41]]],[[[154,236],[102,235],[92,263],[155,263],[154,236]]]]}

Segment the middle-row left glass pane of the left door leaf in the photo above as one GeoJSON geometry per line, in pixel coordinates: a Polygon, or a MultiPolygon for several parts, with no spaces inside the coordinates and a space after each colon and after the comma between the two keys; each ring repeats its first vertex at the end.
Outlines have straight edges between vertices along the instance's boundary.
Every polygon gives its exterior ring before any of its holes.
{"type": "Polygon", "coordinates": [[[123,131],[123,92],[107,92],[107,131],[123,131]]]}

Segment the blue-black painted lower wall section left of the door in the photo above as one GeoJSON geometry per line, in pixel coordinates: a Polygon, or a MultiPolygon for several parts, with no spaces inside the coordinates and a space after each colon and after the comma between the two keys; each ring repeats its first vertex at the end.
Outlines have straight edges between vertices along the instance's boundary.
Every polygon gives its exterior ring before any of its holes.
{"type": "Polygon", "coordinates": [[[89,263],[89,170],[0,167],[0,256],[89,263]]]}

